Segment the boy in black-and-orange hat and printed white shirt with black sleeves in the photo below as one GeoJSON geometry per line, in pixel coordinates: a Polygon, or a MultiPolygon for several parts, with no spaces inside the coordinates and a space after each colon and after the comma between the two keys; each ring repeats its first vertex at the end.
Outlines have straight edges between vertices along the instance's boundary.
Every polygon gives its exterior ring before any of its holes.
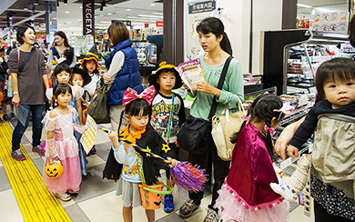
{"type": "MultiPolygon", "coordinates": [[[[149,76],[149,85],[157,89],[152,102],[151,126],[166,141],[168,146],[179,155],[179,147],[176,146],[177,132],[185,122],[185,106],[181,96],[173,93],[172,89],[182,86],[181,77],[174,65],[162,62],[155,75],[149,76]]],[[[174,187],[170,179],[170,170],[167,169],[167,186],[174,187]]],[[[165,195],[164,211],[170,213],[174,210],[173,195],[165,195]]]]}

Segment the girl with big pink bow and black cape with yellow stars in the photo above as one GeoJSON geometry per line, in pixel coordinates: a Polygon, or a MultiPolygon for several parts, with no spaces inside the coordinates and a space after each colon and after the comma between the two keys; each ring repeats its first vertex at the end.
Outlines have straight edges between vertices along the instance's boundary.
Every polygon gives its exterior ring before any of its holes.
{"type": "MultiPolygon", "coordinates": [[[[147,127],[151,114],[149,105],[154,94],[154,86],[148,87],[140,95],[137,95],[135,90],[127,88],[122,102],[125,112],[122,112],[120,124],[124,115],[129,124],[121,130],[119,136],[159,156],[170,157],[170,166],[177,166],[177,160],[171,159],[171,157],[175,157],[174,151],[151,127],[147,127]]],[[[137,152],[133,146],[119,141],[117,132],[109,131],[108,136],[113,143],[112,150],[119,167],[112,166],[107,159],[104,176],[111,178],[110,173],[107,174],[107,172],[112,171],[113,168],[119,170],[117,195],[122,195],[124,221],[132,221],[132,208],[142,205],[138,187],[138,184],[142,183],[142,177],[145,178],[147,185],[156,184],[157,177],[160,177],[159,169],[165,169],[166,166],[160,159],[147,153],[137,152]],[[142,163],[143,172],[139,169],[139,162],[142,163]]],[[[146,209],[146,215],[148,221],[155,221],[154,210],[146,209]]]]}

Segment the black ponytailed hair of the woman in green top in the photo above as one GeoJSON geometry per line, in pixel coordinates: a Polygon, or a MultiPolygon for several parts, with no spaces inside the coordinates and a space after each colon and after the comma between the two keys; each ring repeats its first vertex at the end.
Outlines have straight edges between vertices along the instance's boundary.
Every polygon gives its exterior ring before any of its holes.
{"type": "Polygon", "coordinates": [[[219,45],[223,51],[232,55],[232,46],[230,45],[227,34],[224,31],[223,23],[216,17],[207,17],[198,25],[196,28],[198,33],[208,34],[213,33],[218,38],[220,35],[223,36],[219,45]]]}

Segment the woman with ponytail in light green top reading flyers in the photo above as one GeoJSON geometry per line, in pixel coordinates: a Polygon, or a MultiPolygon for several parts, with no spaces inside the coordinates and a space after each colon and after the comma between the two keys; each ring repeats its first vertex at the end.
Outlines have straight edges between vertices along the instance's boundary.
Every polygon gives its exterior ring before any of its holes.
{"type": "MultiPolygon", "coordinates": [[[[232,55],[232,49],[228,36],[224,32],[223,23],[215,17],[205,18],[197,27],[199,44],[205,51],[205,54],[198,55],[201,61],[203,74],[206,82],[198,84],[198,90],[189,92],[189,95],[195,97],[195,101],[191,106],[191,116],[208,120],[209,110],[212,101],[217,97],[216,115],[220,114],[224,107],[227,107],[231,113],[238,111],[238,97],[240,100],[244,98],[243,74],[240,63],[233,58],[228,66],[227,75],[223,83],[222,89],[218,89],[218,80],[221,75],[224,63],[229,55],[232,55]]],[[[188,86],[184,85],[188,89],[188,86]]],[[[213,206],[218,197],[218,189],[222,186],[224,179],[228,176],[229,162],[223,161],[217,154],[217,148],[213,139],[210,141],[209,152],[212,156],[214,168],[215,184],[212,192],[212,202],[208,206],[208,214],[204,222],[218,221],[218,214],[213,206]]],[[[206,168],[206,159],[208,154],[188,154],[188,161],[195,165],[206,168]]],[[[181,217],[190,217],[198,208],[203,197],[203,191],[188,194],[188,200],[180,207],[179,214],[181,217]]]]}

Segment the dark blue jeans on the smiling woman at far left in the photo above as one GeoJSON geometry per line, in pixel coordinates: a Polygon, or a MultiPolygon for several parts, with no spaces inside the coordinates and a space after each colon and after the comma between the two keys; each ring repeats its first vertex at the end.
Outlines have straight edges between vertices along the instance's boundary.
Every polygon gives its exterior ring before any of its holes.
{"type": "Polygon", "coordinates": [[[17,121],[13,133],[13,151],[20,148],[21,138],[24,136],[25,129],[28,126],[30,119],[30,111],[32,112],[32,146],[38,146],[41,144],[42,136],[42,110],[43,105],[21,105],[28,110],[28,115],[25,118],[25,126],[21,124],[20,121],[17,121]]]}

